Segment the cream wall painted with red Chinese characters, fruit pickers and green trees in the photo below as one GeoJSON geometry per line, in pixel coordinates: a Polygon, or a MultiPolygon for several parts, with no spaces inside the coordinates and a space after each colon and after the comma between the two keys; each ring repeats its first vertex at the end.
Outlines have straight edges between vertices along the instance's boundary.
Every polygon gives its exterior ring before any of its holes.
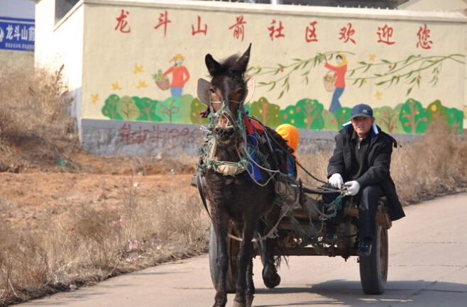
{"type": "MultiPolygon", "coordinates": [[[[219,60],[253,43],[256,91],[246,107],[268,125],[337,130],[366,103],[391,133],[424,133],[439,117],[462,129],[466,18],[458,13],[211,1],[77,6],[54,31],[75,18],[60,45],[79,48],[83,19],[82,118],[203,123],[195,96],[197,79],[207,78],[204,56],[219,60]],[[338,66],[346,72],[335,80],[329,70],[338,66]]],[[[79,70],[75,56],[62,60],[75,59],[79,70]]]]}

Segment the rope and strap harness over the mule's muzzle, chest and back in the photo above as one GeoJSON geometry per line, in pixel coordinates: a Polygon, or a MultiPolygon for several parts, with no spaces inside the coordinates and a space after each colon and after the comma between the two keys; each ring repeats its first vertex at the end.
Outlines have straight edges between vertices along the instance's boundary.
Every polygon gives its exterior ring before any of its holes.
{"type": "MultiPolygon", "coordinates": [[[[260,152],[259,147],[258,147],[258,142],[256,144],[248,143],[247,141],[247,129],[245,125],[245,121],[249,121],[249,117],[246,114],[245,109],[243,108],[243,101],[229,101],[233,102],[235,104],[239,104],[240,107],[238,108],[237,111],[237,118],[238,120],[234,120],[233,116],[231,115],[231,111],[229,110],[228,106],[226,106],[225,101],[210,101],[209,108],[211,108],[211,113],[209,114],[209,125],[207,128],[205,128],[205,135],[204,135],[204,145],[199,148],[199,163],[197,164],[197,186],[199,190],[199,194],[201,196],[204,208],[206,208],[206,211],[211,218],[211,215],[209,213],[209,210],[207,208],[207,202],[206,202],[206,197],[204,196],[204,187],[203,187],[203,181],[202,177],[206,174],[208,169],[212,169],[215,172],[218,172],[219,174],[222,174],[223,176],[233,176],[235,177],[238,174],[241,174],[243,172],[246,172],[248,177],[251,179],[251,181],[254,184],[257,184],[258,186],[266,186],[268,185],[272,180],[275,180],[275,193],[276,193],[276,198],[275,198],[275,206],[280,206],[281,208],[281,213],[278,221],[275,223],[273,228],[270,229],[270,231],[261,236],[260,238],[253,238],[253,242],[258,242],[260,240],[266,240],[268,238],[278,238],[279,233],[278,233],[278,226],[282,219],[287,216],[290,219],[290,225],[292,225],[292,230],[300,235],[302,238],[302,242],[300,245],[307,245],[310,242],[316,242],[317,241],[317,235],[321,233],[322,227],[324,224],[324,221],[326,221],[329,218],[332,218],[336,216],[337,211],[341,208],[341,199],[342,196],[338,196],[335,201],[329,203],[329,204],[324,204],[322,207],[322,210],[319,210],[318,208],[311,208],[311,210],[314,210],[316,213],[319,215],[319,220],[321,221],[321,228],[319,230],[314,227],[314,223],[312,221],[312,218],[310,217],[309,219],[309,225],[307,228],[303,228],[302,225],[300,225],[300,222],[297,221],[297,219],[293,216],[293,210],[296,208],[300,207],[300,199],[301,196],[300,194],[303,191],[306,191],[308,193],[314,193],[314,194],[325,194],[325,193],[336,193],[340,192],[341,194],[346,191],[346,189],[329,189],[323,186],[317,187],[317,189],[307,189],[307,188],[302,188],[301,183],[297,183],[295,179],[292,179],[289,177],[287,174],[282,174],[279,169],[272,169],[270,165],[268,164],[265,155],[263,155],[262,152],[260,152]],[[222,104],[222,107],[214,112],[214,108],[212,108],[211,104],[222,104]],[[238,162],[231,162],[231,161],[221,161],[217,160],[216,158],[216,151],[217,151],[217,140],[214,136],[213,130],[214,130],[214,125],[218,123],[219,118],[221,116],[226,117],[229,119],[229,121],[232,123],[226,128],[233,128],[234,133],[237,133],[238,135],[241,136],[241,142],[238,142],[238,144],[235,147],[235,152],[238,156],[238,162]],[[254,157],[257,157],[255,159],[254,157]],[[258,162],[257,162],[258,160],[258,162]],[[255,174],[251,171],[253,167],[258,167],[259,169],[262,169],[265,171],[266,174],[268,174],[268,178],[265,180],[258,180],[255,177],[255,174]],[[260,182],[263,181],[263,182],[260,182]],[[290,189],[293,191],[290,192],[290,189]]],[[[256,118],[255,120],[260,123],[263,128],[265,127],[263,123],[258,121],[256,118]]],[[[256,130],[254,131],[255,135],[254,137],[257,140],[260,140],[261,143],[267,143],[268,149],[270,150],[270,154],[273,154],[273,146],[270,143],[270,140],[272,139],[275,145],[277,145],[280,150],[283,152],[286,152],[287,155],[292,155],[287,149],[282,147],[280,143],[278,143],[277,140],[274,138],[270,138],[268,135],[268,131],[264,128],[264,136],[259,135],[256,130]]],[[[310,177],[314,178],[318,182],[326,183],[316,177],[314,177],[310,172],[305,169],[302,164],[298,163],[297,164],[306,172],[310,177]]],[[[310,210],[310,209],[308,209],[310,210]]],[[[235,235],[229,234],[229,238],[232,238],[234,240],[241,241],[242,238],[238,238],[235,235]]]]}

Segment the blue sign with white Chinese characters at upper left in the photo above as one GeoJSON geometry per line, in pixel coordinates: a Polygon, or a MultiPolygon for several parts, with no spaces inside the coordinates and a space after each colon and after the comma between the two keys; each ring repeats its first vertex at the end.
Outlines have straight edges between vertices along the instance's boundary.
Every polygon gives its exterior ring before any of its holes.
{"type": "Polygon", "coordinates": [[[0,17],[0,49],[34,51],[34,19],[0,17]]]}

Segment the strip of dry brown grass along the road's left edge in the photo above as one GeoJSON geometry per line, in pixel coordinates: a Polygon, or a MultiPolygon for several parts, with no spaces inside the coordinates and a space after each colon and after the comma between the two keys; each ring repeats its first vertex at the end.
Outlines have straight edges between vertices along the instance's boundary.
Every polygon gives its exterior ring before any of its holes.
{"type": "Polygon", "coordinates": [[[209,218],[194,189],[144,203],[125,186],[116,208],[48,213],[32,228],[0,223],[0,306],[206,252],[209,218]]]}

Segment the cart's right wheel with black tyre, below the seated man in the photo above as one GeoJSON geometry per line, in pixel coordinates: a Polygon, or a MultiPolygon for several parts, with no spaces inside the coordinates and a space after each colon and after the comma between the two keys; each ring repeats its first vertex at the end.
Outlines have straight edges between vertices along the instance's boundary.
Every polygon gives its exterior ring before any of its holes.
{"type": "Polygon", "coordinates": [[[365,294],[383,294],[388,279],[388,230],[376,227],[368,257],[360,257],[360,280],[365,294]]]}

